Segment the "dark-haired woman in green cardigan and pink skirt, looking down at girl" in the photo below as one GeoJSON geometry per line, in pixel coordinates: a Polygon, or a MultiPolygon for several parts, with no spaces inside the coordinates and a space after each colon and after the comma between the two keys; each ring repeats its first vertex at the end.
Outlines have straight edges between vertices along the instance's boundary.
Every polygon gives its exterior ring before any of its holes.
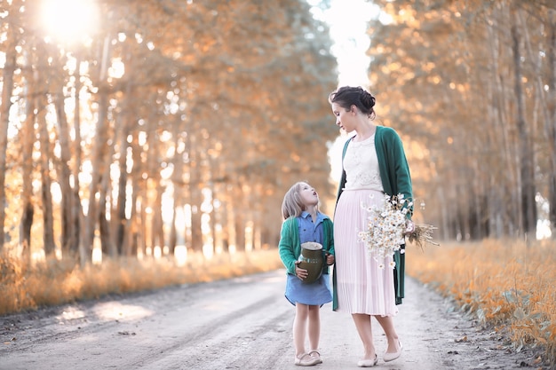
{"type": "MultiPolygon", "coordinates": [[[[403,298],[404,255],[396,252],[394,269],[381,268],[368,256],[364,243],[358,239],[358,232],[365,230],[369,216],[362,206],[381,206],[385,193],[390,196],[401,193],[406,200],[411,200],[411,177],[401,138],[395,130],[373,123],[375,98],[368,91],[361,87],[341,87],[330,94],[329,101],[340,129],[355,132],[344,146],[334,214],[333,309],[352,314],[364,347],[363,358],[357,366],[371,367],[378,361],[372,317],[377,319],[388,341],[385,362],[401,355],[393,316],[398,313],[396,304],[401,304],[403,298]]],[[[406,232],[411,231],[413,224],[408,221],[406,232]]],[[[385,261],[385,265],[389,262],[385,261]]]]}

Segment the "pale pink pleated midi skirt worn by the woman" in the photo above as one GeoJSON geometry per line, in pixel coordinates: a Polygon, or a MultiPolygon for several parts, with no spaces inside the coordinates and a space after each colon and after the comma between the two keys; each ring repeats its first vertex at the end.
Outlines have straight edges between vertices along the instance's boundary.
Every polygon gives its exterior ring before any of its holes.
{"type": "Polygon", "coordinates": [[[384,268],[359,241],[358,233],[368,224],[368,211],[362,207],[384,204],[384,194],[373,190],[345,190],[340,195],[334,213],[334,250],[338,311],[394,316],[395,304],[392,257],[384,268]],[[371,197],[371,194],[374,195],[371,197]]]}

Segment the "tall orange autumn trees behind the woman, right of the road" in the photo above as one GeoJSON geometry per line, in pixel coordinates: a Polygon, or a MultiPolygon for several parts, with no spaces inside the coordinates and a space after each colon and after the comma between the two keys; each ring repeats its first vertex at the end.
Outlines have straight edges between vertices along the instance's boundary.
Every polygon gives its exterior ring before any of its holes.
{"type": "Polygon", "coordinates": [[[551,5],[377,4],[371,88],[385,124],[414,148],[426,215],[445,238],[534,235],[537,189],[545,192],[542,174],[552,172],[536,155],[546,145],[538,132],[548,116],[551,5]]]}

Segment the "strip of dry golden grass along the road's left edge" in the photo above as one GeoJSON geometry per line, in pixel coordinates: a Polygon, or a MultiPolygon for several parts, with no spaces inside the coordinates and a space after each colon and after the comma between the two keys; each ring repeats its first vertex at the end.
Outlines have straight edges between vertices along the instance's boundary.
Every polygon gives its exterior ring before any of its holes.
{"type": "Polygon", "coordinates": [[[85,269],[74,263],[47,261],[36,266],[0,257],[0,316],[108,294],[229,279],[282,268],[276,249],[205,259],[190,254],[179,266],[172,258],[105,260],[85,269]]]}

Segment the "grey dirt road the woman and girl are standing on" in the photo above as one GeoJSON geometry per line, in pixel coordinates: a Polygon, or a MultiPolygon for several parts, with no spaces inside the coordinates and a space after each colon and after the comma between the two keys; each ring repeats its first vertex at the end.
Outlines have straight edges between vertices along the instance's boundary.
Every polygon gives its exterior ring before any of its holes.
{"type": "MultiPolygon", "coordinates": [[[[0,369],[299,369],[293,365],[293,306],[285,272],[154,293],[111,297],[0,318],[0,369]]],[[[439,295],[416,281],[395,323],[401,358],[377,368],[522,369],[531,352],[513,353],[496,335],[476,331],[439,295]]],[[[357,368],[361,343],[349,315],[322,307],[323,363],[357,368]]],[[[385,336],[373,322],[379,354],[385,336]]]]}

